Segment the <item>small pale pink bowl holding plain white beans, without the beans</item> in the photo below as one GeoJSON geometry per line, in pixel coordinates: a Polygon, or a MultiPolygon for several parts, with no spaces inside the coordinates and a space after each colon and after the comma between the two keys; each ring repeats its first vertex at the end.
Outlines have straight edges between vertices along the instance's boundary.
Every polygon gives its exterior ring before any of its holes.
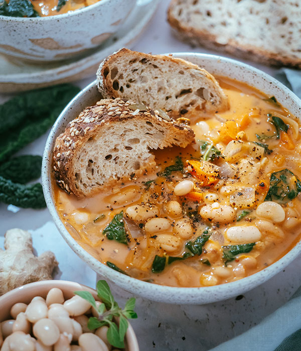
{"type": "MultiPolygon", "coordinates": [[[[88,286],[66,280],[44,280],[20,286],[17,289],[7,292],[0,297],[0,322],[11,319],[10,310],[17,302],[28,304],[35,296],[46,297],[52,288],[59,288],[63,291],[65,299],[74,296],[74,291],[86,290],[91,292],[96,300],[99,300],[94,289],[88,286]]],[[[130,324],[125,335],[125,351],[139,351],[138,342],[134,330],[130,324]]]]}

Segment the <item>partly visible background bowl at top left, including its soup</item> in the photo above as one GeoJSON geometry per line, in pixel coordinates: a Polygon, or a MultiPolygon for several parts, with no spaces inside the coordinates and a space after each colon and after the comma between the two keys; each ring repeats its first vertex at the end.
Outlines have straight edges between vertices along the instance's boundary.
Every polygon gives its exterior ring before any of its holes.
{"type": "Polygon", "coordinates": [[[136,0],[4,0],[0,5],[0,53],[33,62],[83,55],[117,32],[135,3],[136,0]]]}

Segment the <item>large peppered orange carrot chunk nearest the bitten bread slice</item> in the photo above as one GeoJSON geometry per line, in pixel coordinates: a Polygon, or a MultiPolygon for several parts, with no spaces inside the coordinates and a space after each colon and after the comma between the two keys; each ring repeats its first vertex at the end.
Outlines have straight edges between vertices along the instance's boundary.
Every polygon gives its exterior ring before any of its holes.
{"type": "Polygon", "coordinates": [[[186,168],[190,174],[196,177],[202,187],[215,185],[219,180],[218,168],[215,164],[208,161],[188,160],[186,168]]]}

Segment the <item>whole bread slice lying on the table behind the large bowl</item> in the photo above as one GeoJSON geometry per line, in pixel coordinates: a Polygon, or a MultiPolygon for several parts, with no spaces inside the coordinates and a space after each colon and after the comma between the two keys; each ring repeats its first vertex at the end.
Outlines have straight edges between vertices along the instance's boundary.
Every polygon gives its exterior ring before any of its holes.
{"type": "Polygon", "coordinates": [[[301,68],[301,3],[285,0],[172,0],[180,39],[268,65],[301,68]]]}

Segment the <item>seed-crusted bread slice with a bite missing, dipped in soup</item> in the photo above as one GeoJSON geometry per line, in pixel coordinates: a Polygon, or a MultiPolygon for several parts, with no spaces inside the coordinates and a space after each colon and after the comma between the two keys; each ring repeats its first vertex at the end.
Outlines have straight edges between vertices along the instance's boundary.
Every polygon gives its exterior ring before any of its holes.
{"type": "Polygon", "coordinates": [[[194,142],[191,128],[124,100],[104,99],[87,107],[57,137],[54,175],[67,193],[89,196],[118,181],[146,175],[156,167],[149,150],[194,142]]]}

